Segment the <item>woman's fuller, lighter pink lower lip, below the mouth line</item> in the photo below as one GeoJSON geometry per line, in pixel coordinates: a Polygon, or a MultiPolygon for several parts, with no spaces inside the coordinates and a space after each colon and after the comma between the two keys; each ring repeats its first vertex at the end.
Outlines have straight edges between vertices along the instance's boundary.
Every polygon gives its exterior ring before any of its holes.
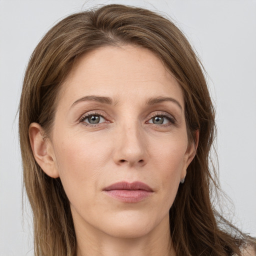
{"type": "Polygon", "coordinates": [[[139,202],[152,194],[151,191],[146,190],[104,190],[104,192],[123,202],[139,202]]]}

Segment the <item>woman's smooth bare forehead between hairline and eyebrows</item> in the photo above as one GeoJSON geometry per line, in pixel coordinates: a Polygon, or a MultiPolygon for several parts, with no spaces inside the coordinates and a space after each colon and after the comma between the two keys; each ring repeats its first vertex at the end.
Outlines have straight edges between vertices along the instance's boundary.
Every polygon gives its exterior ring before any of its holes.
{"type": "Polygon", "coordinates": [[[182,90],[162,61],[149,49],[129,44],[100,47],[79,57],[61,86],[60,101],[95,94],[130,102],[171,96],[184,105],[182,90]]]}

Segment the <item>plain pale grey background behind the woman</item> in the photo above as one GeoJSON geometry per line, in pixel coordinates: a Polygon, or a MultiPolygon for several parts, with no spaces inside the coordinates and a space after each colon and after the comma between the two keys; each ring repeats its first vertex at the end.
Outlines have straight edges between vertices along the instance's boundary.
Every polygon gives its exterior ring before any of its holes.
{"type": "Polygon", "coordinates": [[[226,211],[256,236],[255,0],[0,0],[0,255],[33,255],[15,119],[29,56],[56,21],[107,3],[167,13],[196,49],[217,111],[220,183],[234,205],[226,211]]]}

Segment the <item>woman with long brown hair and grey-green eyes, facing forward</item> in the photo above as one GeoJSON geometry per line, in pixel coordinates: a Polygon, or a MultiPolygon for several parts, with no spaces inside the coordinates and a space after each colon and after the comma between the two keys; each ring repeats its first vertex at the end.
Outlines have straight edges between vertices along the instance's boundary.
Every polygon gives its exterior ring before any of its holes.
{"type": "Polygon", "coordinates": [[[36,255],[253,255],[211,205],[214,109],[164,17],[106,5],[51,28],[27,66],[19,134],[36,255]]]}

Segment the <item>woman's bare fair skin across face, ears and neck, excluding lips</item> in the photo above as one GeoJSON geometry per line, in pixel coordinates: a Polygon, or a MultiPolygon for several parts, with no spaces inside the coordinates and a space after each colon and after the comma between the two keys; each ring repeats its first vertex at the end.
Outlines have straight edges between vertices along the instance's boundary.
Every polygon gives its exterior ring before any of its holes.
{"type": "Polygon", "coordinates": [[[45,173],[61,179],[77,256],[175,255],[168,211],[195,145],[187,139],[181,88],[159,58],[134,45],[80,57],[61,85],[50,136],[43,133],[30,125],[31,147],[45,173]],[[91,95],[112,102],[84,99],[91,95]],[[152,101],[163,97],[171,100],[152,101]],[[89,114],[99,123],[89,123],[89,114]],[[118,181],[141,181],[152,192],[123,202],[103,191],[118,181]]]}

